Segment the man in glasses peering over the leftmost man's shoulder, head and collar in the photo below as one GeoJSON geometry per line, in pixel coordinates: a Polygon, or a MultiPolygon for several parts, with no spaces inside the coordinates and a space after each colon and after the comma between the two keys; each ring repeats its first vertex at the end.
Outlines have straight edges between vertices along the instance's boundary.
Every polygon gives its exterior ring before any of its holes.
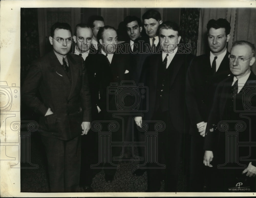
{"type": "Polygon", "coordinates": [[[90,52],[90,47],[92,43],[92,28],[84,23],[80,23],[76,25],[76,29],[74,32],[74,54],[83,57],[83,60],[86,59],[90,52]]]}

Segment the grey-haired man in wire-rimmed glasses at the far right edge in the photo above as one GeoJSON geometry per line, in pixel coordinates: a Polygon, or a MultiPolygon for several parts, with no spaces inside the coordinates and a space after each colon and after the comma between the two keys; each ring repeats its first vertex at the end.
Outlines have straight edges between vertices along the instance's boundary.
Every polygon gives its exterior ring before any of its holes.
{"type": "MultiPolygon", "coordinates": [[[[211,167],[210,169],[214,173],[214,177],[211,178],[212,191],[230,191],[230,188],[235,188],[239,184],[239,188],[243,190],[247,188],[251,192],[255,192],[256,181],[252,176],[256,175],[256,125],[253,119],[256,106],[256,76],[251,71],[254,62],[255,47],[253,44],[248,41],[233,43],[229,55],[229,67],[232,75],[217,86],[205,133],[204,164],[211,167]],[[234,148],[236,151],[232,150],[232,143],[228,141],[232,141],[232,139],[226,139],[229,134],[221,132],[220,129],[223,127],[218,125],[222,120],[228,123],[229,133],[234,135],[235,132],[230,131],[238,130],[237,142],[253,142],[253,146],[237,147],[236,145],[234,148]],[[244,128],[234,125],[239,121],[245,123],[244,128]],[[227,156],[233,154],[237,156],[237,161],[234,158],[227,161],[227,156]],[[239,164],[240,167],[232,166],[233,168],[223,169],[225,162],[236,162],[236,165],[239,164]],[[248,164],[246,169],[241,169],[243,164],[245,167],[248,164]],[[218,165],[221,166],[218,167],[218,165]]],[[[230,167],[232,164],[227,165],[230,167]]]]}

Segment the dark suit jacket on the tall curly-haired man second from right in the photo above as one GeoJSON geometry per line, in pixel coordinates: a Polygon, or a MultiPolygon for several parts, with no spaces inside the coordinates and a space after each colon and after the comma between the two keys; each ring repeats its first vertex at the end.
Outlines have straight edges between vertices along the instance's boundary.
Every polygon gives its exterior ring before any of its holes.
{"type": "Polygon", "coordinates": [[[186,103],[191,120],[190,134],[200,136],[197,123],[207,122],[215,89],[219,82],[231,73],[229,52],[223,58],[218,71],[212,74],[210,54],[195,57],[188,68],[186,79],[186,103]]]}

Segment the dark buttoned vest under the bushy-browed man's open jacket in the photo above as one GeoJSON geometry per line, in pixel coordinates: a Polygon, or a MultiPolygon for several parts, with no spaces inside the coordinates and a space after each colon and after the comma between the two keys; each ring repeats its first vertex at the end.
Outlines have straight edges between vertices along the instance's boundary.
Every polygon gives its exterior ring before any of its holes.
{"type": "Polygon", "coordinates": [[[159,65],[157,71],[155,111],[157,111],[158,109],[161,112],[169,111],[169,85],[170,66],[164,70],[162,65],[159,65]]]}

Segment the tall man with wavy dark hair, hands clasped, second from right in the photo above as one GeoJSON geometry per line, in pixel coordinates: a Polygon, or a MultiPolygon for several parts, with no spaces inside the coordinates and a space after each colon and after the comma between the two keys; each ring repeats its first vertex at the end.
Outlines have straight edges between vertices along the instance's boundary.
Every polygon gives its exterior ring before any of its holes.
{"type": "Polygon", "coordinates": [[[210,52],[191,61],[186,80],[186,103],[191,121],[190,192],[203,191],[206,171],[202,164],[205,128],[217,84],[230,74],[229,52],[226,49],[230,24],[226,19],[211,19],[207,30],[210,52]]]}

